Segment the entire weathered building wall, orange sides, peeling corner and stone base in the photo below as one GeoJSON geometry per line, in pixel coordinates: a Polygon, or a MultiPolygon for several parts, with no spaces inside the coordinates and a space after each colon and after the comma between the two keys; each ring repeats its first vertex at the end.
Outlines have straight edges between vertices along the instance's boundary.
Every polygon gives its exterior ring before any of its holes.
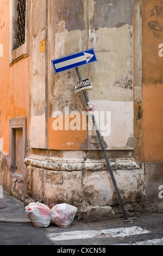
{"type": "Polygon", "coordinates": [[[162,1],[27,3],[30,57],[10,65],[11,6],[0,2],[0,185],[20,200],[73,204],[85,221],[119,212],[96,132],[83,119],[84,95],[74,93],[76,70],[55,75],[51,64],[93,47],[98,62],[79,70],[91,80],[96,113],[105,113],[99,128],[125,207],[161,211],[162,1]],[[62,130],[54,129],[58,111],[62,130]],[[18,145],[27,142],[26,173],[18,145]]]}

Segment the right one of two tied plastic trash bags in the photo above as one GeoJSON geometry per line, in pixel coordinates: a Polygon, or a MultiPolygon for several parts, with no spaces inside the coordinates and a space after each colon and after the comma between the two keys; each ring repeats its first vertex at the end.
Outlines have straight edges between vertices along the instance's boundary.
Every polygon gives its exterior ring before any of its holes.
{"type": "Polygon", "coordinates": [[[57,204],[52,208],[52,223],[61,228],[70,227],[76,215],[77,208],[70,204],[57,204]]]}

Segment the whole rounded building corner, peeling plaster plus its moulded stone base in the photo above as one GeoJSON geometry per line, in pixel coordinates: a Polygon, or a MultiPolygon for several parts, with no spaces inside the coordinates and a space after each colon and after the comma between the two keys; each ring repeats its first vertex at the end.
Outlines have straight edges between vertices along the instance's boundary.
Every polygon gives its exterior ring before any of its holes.
{"type": "Polygon", "coordinates": [[[82,66],[80,73],[83,79],[90,77],[93,90],[88,93],[95,110],[111,113],[108,123],[105,117],[105,148],[124,203],[130,211],[139,210],[143,172],[132,159],[134,8],[133,1],[102,0],[32,5],[27,192],[46,204],[76,205],[79,219],[114,216],[118,200],[95,131],[72,131],[69,126],[72,111],[79,113],[81,121],[82,111],[87,111],[83,94],[74,93],[76,70],[55,75],[51,60],[95,48],[98,62],[82,66]],[[46,47],[40,52],[43,39],[46,47]],[[54,130],[56,111],[63,114],[63,130],[54,130]]]}

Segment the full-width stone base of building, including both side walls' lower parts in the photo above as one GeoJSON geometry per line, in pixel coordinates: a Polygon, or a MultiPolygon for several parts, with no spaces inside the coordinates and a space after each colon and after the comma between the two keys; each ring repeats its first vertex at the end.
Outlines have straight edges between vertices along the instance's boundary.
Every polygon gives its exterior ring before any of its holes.
{"type": "MultiPolygon", "coordinates": [[[[123,217],[101,155],[96,155],[96,160],[92,158],[94,152],[91,157],[85,153],[68,154],[69,157],[45,157],[40,152],[30,155],[24,161],[27,175],[22,175],[13,172],[9,155],[0,153],[0,185],[24,205],[33,200],[46,205],[74,205],[78,220],[85,222],[123,217]]],[[[128,217],[163,212],[162,163],[139,166],[131,157],[109,159],[128,217]]]]}

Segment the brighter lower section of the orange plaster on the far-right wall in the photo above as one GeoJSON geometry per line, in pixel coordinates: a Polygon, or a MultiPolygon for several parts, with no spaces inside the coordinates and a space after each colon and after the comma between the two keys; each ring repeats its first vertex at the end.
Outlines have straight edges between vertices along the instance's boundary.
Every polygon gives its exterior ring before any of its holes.
{"type": "Polygon", "coordinates": [[[163,161],[163,86],[143,84],[143,158],[163,161]]]}

